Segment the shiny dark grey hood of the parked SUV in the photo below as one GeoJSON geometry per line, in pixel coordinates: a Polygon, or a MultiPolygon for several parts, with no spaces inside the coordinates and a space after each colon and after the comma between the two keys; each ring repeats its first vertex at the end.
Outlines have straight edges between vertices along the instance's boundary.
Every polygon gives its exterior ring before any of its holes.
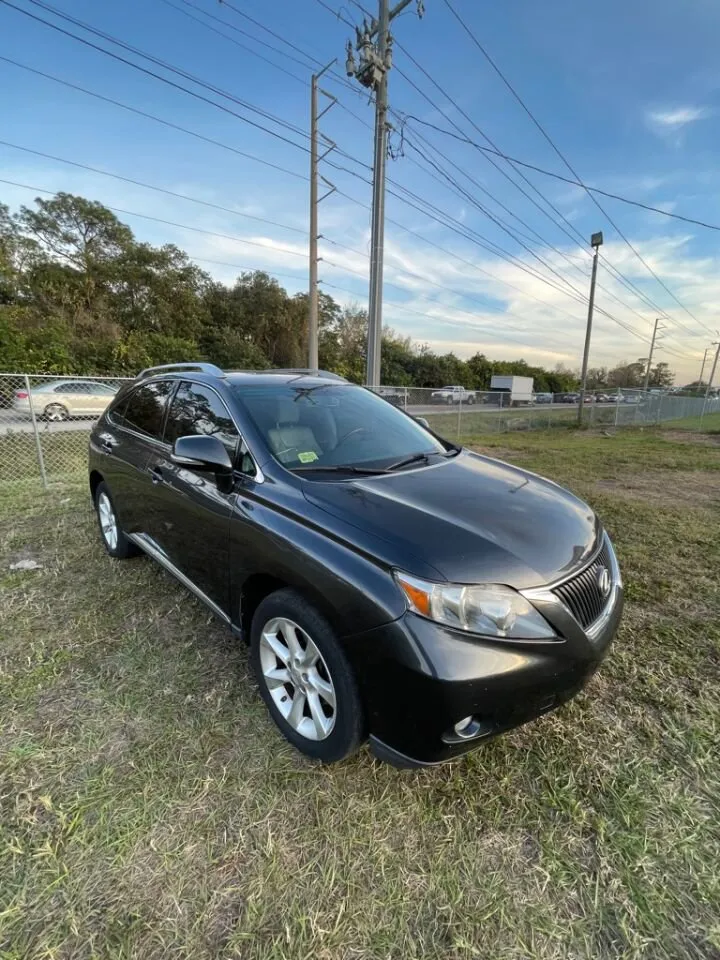
{"type": "Polygon", "coordinates": [[[305,481],[303,492],[357,527],[358,545],[380,538],[399,568],[427,576],[430,565],[455,583],[551,583],[587,561],[600,533],[590,507],[567,490],[466,451],[419,470],[305,481]]]}

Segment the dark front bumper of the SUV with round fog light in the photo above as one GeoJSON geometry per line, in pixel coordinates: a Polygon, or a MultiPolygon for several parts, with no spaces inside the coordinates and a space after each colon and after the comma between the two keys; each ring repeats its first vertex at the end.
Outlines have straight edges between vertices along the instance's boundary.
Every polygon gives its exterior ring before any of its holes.
{"type": "Polygon", "coordinates": [[[587,633],[557,597],[542,590],[534,592],[533,603],[560,639],[472,636],[408,612],[348,640],[373,753],[396,766],[442,763],[575,696],[617,632],[623,589],[616,566],[613,572],[608,605],[587,633]],[[478,732],[463,739],[453,728],[469,716],[478,732]]]}

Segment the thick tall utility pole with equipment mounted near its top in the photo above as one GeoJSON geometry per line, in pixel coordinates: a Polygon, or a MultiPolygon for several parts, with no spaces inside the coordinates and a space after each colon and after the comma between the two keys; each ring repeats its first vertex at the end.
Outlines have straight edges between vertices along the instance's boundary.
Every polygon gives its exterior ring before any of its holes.
{"type": "MultiPolygon", "coordinates": [[[[390,9],[389,0],[378,0],[378,16],[371,23],[356,27],[355,49],[360,55],[356,65],[352,41],[347,42],[346,70],[364,87],[375,91],[375,150],[373,156],[372,237],[370,243],[370,291],[368,298],[368,340],[366,383],[380,383],[382,350],[383,256],[385,250],[385,164],[388,136],[388,72],[392,67],[390,24],[412,0],[400,0],[390,9]]],[[[424,12],[423,0],[417,0],[418,16],[424,12]]]]}

